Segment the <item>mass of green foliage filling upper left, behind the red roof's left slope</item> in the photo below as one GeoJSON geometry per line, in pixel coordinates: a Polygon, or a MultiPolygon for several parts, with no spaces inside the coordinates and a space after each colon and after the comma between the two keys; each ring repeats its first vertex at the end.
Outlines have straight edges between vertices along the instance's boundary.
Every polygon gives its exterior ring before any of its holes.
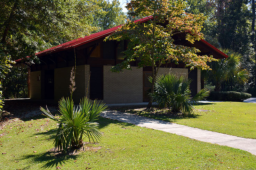
{"type": "Polygon", "coordinates": [[[39,62],[34,54],[122,24],[125,16],[119,6],[120,3],[116,0],[1,1],[0,80],[3,83],[3,95],[7,99],[28,97],[25,79],[29,74],[29,65],[39,62]],[[26,56],[31,56],[23,61],[26,65],[9,68],[11,60],[26,56]],[[3,61],[4,59],[7,60],[3,61]],[[2,67],[5,64],[8,71],[2,67]],[[3,77],[5,75],[6,79],[3,77]]]}

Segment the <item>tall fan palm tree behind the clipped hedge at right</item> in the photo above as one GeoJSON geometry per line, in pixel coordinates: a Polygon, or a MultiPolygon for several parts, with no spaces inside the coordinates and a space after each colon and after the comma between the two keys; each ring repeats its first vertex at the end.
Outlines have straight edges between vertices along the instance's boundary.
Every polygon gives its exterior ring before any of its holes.
{"type": "Polygon", "coordinates": [[[228,49],[221,49],[229,57],[218,59],[210,63],[211,70],[207,71],[207,76],[213,80],[215,91],[221,91],[221,84],[225,81],[237,81],[240,84],[248,81],[249,73],[241,68],[242,55],[228,49]]]}

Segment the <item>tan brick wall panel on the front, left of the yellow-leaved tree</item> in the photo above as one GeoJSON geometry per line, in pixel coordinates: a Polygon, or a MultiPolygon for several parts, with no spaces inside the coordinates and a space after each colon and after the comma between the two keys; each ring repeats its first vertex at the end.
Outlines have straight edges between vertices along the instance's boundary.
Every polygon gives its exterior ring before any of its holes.
{"type": "Polygon", "coordinates": [[[110,72],[103,66],[103,102],[135,103],[143,100],[143,69],[131,67],[123,73],[110,72]]]}

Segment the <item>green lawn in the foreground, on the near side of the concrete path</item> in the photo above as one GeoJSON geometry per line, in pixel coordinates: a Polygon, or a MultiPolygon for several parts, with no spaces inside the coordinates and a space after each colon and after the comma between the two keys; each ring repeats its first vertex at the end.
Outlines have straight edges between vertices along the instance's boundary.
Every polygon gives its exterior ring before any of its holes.
{"type": "Polygon", "coordinates": [[[0,130],[0,169],[255,169],[256,156],[246,151],[105,118],[99,123],[103,136],[98,144],[60,156],[51,150],[53,121],[10,120],[0,130]]]}

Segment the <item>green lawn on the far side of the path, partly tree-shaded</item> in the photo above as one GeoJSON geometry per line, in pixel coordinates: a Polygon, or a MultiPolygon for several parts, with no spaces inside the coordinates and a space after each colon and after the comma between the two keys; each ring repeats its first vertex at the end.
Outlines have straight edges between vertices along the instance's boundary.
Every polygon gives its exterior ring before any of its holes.
{"type": "Polygon", "coordinates": [[[191,117],[177,116],[177,114],[166,113],[167,110],[157,108],[151,110],[145,110],[143,107],[114,109],[199,129],[256,139],[256,103],[199,103],[195,105],[195,114],[191,117]]]}

